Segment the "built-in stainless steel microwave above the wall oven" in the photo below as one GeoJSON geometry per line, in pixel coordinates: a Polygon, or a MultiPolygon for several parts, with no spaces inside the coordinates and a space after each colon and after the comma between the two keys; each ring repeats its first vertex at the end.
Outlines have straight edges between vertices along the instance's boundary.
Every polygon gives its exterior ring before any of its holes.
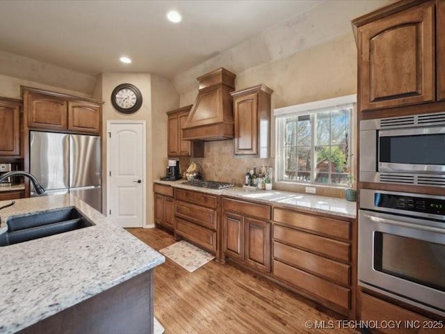
{"type": "Polygon", "coordinates": [[[445,186],[445,113],[360,122],[360,180],[445,186]]]}

